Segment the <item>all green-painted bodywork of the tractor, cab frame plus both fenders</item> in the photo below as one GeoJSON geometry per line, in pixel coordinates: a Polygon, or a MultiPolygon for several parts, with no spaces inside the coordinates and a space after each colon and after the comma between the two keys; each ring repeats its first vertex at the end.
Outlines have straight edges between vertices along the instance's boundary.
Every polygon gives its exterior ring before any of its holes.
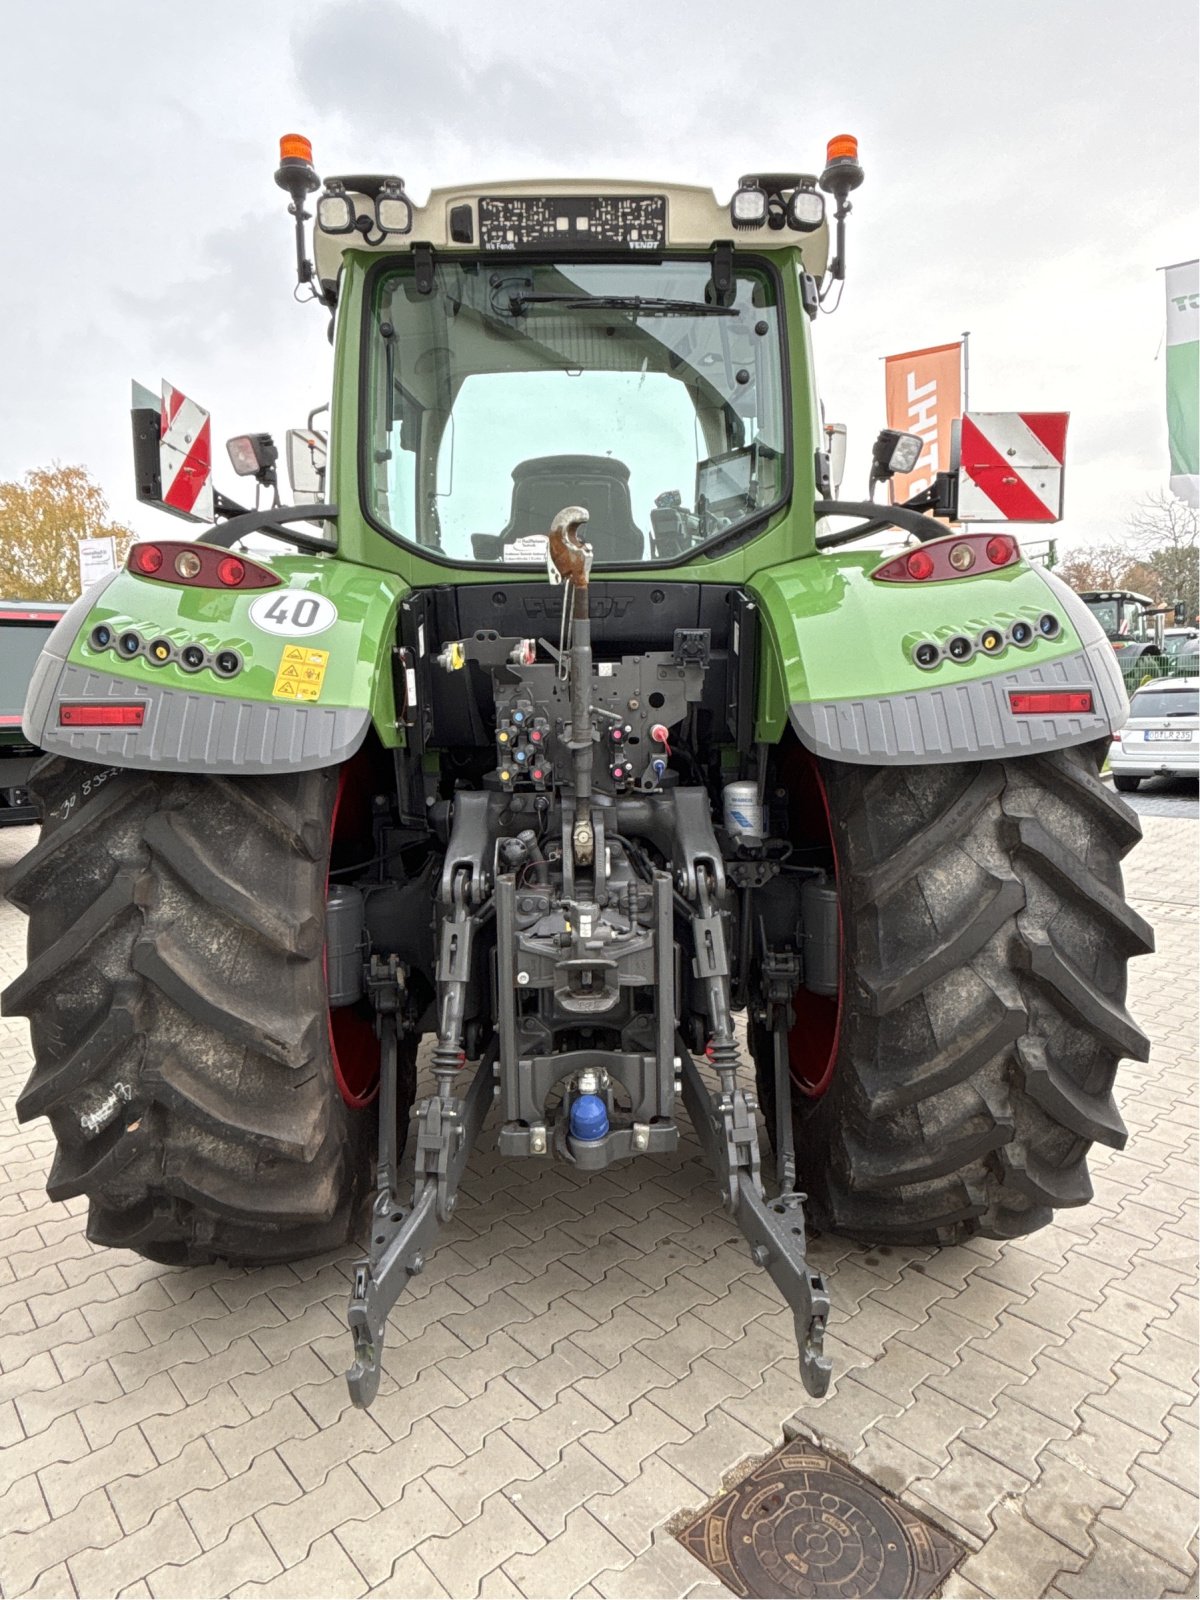
{"type": "MultiPolygon", "coordinates": [[[[757,736],[768,742],[781,738],[794,704],[930,690],[952,677],[986,678],[1078,651],[1080,637],[1062,605],[1056,603],[1040,570],[1026,562],[947,581],[877,582],[870,573],[885,560],[885,552],[901,547],[898,536],[880,536],[878,547],[870,550],[816,549],[814,451],[822,435],[811,323],[800,298],[800,253],[784,248],[757,254],[771,259],[779,272],[790,352],[790,502],[758,533],[714,555],[701,550],[678,563],[626,571],[603,566],[595,570],[595,578],[747,589],[763,619],[757,736]],[[1003,627],[1018,616],[1037,622],[1051,606],[1062,621],[1062,632],[1054,640],[1037,637],[1022,650],[1010,646],[995,658],[976,654],[962,666],[942,661],[933,670],[922,670],[912,661],[912,650],[922,638],[944,640],[957,632],[978,635],[989,624],[1003,627]]],[[[344,256],[326,490],[326,498],[339,506],[338,554],[254,558],[277,571],[286,587],[317,590],[336,605],[338,621],[328,630],[291,642],[328,651],[318,704],[370,710],[379,739],[394,747],[403,742],[390,656],[402,598],[411,589],[438,584],[494,584],[502,576],[504,587],[512,589],[542,579],[512,568],[432,560],[386,536],[363,514],[358,477],[366,418],[360,344],[368,270],[378,264],[374,254],[347,251],[344,256]]],[[[326,525],[326,531],[333,531],[333,525],[326,525]]],[[[272,702],[275,674],[290,640],[256,629],[248,616],[253,600],[269,592],[192,589],[120,573],[83,622],[69,659],[133,682],[272,702]],[[210,651],[234,648],[242,653],[245,669],[222,680],[210,670],[189,674],[174,664],[155,667],[144,658],[123,661],[112,650],[91,648],[88,635],[98,622],[114,630],[138,629],[144,638],[163,635],[178,646],[197,642],[210,651]]]]}

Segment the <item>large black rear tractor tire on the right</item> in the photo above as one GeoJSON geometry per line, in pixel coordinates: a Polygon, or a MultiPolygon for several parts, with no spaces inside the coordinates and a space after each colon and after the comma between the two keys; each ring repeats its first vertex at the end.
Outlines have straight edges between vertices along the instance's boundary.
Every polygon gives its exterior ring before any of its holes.
{"type": "MultiPolygon", "coordinates": [[[[1125,1144],[1114,1075],[1149,1054],[1126,963],[1154,936],[1123,899],[1141,827],[1099,781],[1106,749],[821,763],[842,1018],[829,1088],[794,1091],[819,1229],[874,1245],[1030,1234],[1091,1198],[1093,1141],[1125,1144]]],[[[770,1102],[770,1038],[752,1038],[770,1102]]]]}

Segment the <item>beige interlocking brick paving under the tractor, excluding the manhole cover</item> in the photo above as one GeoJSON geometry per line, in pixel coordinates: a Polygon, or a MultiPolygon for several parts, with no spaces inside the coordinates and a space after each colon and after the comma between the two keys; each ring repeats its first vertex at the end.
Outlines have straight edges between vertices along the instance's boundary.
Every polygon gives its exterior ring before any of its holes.
{"type": "MultiPolygon", "coordinates": [[[[3,1595],[723,1595],[666,1533],[784,1427],[968,1546],[947,1595],[1195,1594],[1197,826],[1130,862],[1154,1037],[1096,1198],[1005,1246],[816,1256],[837,1386],[694,1144],[646,1181],[477,1152],[461,1221],[397,1310],[370,1416],[346,1398],[347,1256],[166,1270],[51,1205],[0,1022],[3,1595]]],[[[32,829],[0,834],[0,862],[32,829]]],[[[0,910],[0,982],[22,918],[0,910]]]]}

